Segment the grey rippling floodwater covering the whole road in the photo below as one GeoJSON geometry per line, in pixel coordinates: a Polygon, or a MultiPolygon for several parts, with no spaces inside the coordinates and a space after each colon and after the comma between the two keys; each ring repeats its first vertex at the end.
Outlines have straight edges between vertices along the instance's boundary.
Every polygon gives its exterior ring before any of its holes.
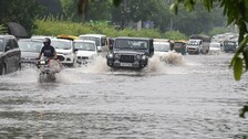
{"type": "Polygon", "coordinates": [[[55,83],[39,83],[31,67],[0,76],[0,138],[242,139],[247,76],[234,79],[231,56],[154,56],[140,72],[97,57],[55,83]]]}

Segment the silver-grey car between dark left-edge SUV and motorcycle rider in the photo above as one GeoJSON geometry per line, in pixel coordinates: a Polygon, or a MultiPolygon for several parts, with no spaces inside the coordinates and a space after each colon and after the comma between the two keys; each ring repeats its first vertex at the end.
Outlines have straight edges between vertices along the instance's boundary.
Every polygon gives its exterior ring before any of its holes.
{"type": "Polygon", "coordinates": [[[21,63],[37,64],[41,49],[42,40],[20,39],[18,40],[21,50],[21,63]]]}

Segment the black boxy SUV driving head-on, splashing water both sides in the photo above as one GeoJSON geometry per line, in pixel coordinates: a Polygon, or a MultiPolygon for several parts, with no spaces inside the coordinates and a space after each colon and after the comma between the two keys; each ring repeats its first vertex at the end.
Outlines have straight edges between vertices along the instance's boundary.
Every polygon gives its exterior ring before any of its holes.
{"type": "Polygon", "coordinates": [[[117,38],[107,54],[107,65],[120,68],[141,70],[154,54],[153,39],[117,38]]]}

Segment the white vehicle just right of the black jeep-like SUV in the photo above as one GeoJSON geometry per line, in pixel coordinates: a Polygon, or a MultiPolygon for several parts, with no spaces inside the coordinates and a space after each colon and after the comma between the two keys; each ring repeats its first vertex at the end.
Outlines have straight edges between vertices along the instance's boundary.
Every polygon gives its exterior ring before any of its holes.
{"type": "Polygon", "coordinates": [[[158,55],[164,55],[165,53],[169,52],[172,45],[168,41],[155,41],[153,42],[154,45],[154,53],[158,55]]]}

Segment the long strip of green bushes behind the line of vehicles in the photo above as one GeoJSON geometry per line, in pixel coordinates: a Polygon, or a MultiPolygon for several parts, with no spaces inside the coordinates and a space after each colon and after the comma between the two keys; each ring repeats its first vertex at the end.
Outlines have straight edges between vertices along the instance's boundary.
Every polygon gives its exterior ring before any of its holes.
{"type": "Polygon", "coordinates": [[[89,24],[89,23],[75,23],[71,21],[60,21],[52,17],[43,20],[35,21],[37,29],[34,34],[39,35],[59,35],[59,34],[70,34],[80,35],[87,33],[106,34],[106,36],[117,38],[117,36],[135,36],[135,38],[156,38],[156,39],[186,39],[185,34],[176,31],[170,31],[167,33],[161,33],[158,30],[144,29],[137,31],[135,29],[124,29],[116,30],[114,26],[106,24],[89,24]]]}

